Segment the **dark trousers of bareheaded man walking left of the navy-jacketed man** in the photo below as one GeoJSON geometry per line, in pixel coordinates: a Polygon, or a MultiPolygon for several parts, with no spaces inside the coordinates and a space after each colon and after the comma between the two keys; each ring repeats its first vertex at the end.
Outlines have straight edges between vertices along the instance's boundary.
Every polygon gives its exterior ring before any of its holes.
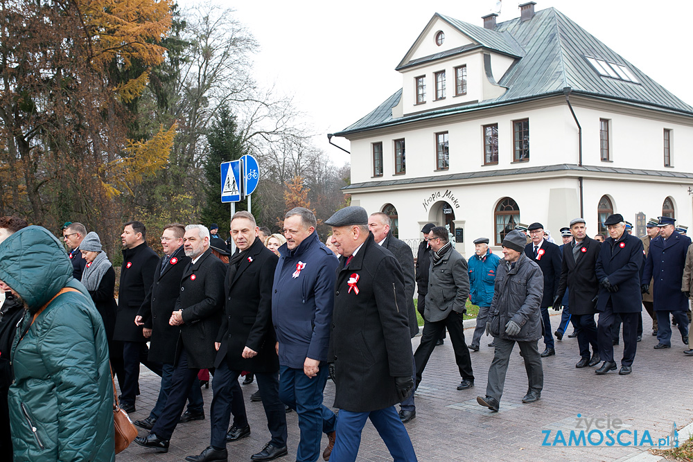
{"type": "MultiPolygon", "coordinates": [[[[214,398],[209,409],[211,417],[210,444],[214,447],[226,447],[226,434],[231,414],[234,414],[234,426],[248,425],[243,402],[243,391],[238,384],[240,371],[231,371],[226,360],[214,373],[212,387],[214,398]],[[237,399],[240,398],[240,399],[237,399]]],[[[279,400],[279,377],[276,372],[255,373],[262,397],[262,404],[267,416],[267,429],[272,434],[272,445],[286,446],[286,411],[279,400]]]]}

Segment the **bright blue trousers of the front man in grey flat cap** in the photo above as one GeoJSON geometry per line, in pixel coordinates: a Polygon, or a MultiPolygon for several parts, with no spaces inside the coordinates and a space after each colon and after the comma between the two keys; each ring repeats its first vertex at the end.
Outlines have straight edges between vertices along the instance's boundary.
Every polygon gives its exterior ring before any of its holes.
{"type": "Polygon", "coordinates": [[[394,462],[416,462],[416,454],[407,429],[399,419],[394,406],[371,412],[352,412],[340,409],[337,417],[337,441],[330,456],[331,462],[354,462],[358,447],[361,444],[361,432],[366,419],[371,423],[380,438],[383,438],[387,450],[394,462]]]}

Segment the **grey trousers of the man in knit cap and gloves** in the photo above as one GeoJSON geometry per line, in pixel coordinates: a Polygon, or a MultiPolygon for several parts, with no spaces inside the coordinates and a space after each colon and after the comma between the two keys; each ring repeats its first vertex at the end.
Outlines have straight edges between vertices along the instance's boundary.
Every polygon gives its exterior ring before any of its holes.
{"type": "MultiPolygon", "coordinates": [[[[489,367],[489,383],[486,385],[486,396],[491,396],[500,402],[505,387],[505,375],[508,371],[510,354],[515,347],[514,340],[495,337],[493,339],[495,351],[493,361],[489,367]]],[[[536,341],[518,341],[520,353],[525,360],[527,382],[529,390],[541,392],[544,388],[544,371],[541,367],[541,356],[536,341]]]]}

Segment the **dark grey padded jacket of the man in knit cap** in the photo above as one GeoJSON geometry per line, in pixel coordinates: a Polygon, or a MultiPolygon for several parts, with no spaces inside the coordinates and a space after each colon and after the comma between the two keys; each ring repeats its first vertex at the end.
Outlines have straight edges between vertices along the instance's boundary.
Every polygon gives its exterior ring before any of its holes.
{"type": "Polygon", "coordinates": [[[512,269],[504,260],[495,275],[493,301],[489,310],[491,335],[506,340],[537,341],[541,338],[541,299],[544,276],[539,266],[520,254],[512,269]],[[520,326],[518,335],[505,333],[505,325],[513,320],[520,326]]]}

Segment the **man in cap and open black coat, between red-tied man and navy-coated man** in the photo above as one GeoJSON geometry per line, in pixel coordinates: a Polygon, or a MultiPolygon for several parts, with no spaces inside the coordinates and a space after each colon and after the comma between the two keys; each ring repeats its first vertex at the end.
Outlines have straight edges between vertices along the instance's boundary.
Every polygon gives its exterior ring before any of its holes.
{"type": "Polygon", "coordinates": [[[595,324],[599,282],[595,273],[595,264],[602,243],[587,236],[584,218],[571,220],[570,232],[573,240],[563,245],[561,279],[553,305],[554,308],[563,305],[565,303],[563,296],[565,292],[569,292],[570,317],[577,328],[577,344],[582,358],[575,367],[591,367],[599,363],[597,325],[595,324]],[[593,351],[591,358],[590,345],[593,351]]]}

